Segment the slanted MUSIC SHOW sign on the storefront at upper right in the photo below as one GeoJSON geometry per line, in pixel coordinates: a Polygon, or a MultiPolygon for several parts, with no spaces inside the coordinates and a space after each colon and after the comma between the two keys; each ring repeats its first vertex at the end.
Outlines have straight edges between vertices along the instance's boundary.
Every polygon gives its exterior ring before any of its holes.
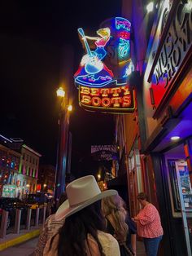
{"type": "Polygon", "coordinates": [[[148,82],[151,82],[151,104],[157,108],[154,117],[159,116],[172,91],[180,84],[178,79],[181,72],[185,72],[191,64],[191,7],[191,0],[178,2],[174,14],[170,16],[171,23],[161,37],[148,77],[148,82]]]}

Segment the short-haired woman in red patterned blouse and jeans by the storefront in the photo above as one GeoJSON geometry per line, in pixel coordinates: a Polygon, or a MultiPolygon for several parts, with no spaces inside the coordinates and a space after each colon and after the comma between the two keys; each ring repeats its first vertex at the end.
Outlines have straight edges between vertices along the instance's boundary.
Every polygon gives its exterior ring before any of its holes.
{"type": "Polygon", "coordinates": [[[154,205],[147,201],[148,198],[144,192],[137,195],[137,200],[142,205],[142,209],[133,218],[137,223],[137,234],[143,238],[146,255],[156,256],[159,243],[164,235],[159,212],[154,205]]]}

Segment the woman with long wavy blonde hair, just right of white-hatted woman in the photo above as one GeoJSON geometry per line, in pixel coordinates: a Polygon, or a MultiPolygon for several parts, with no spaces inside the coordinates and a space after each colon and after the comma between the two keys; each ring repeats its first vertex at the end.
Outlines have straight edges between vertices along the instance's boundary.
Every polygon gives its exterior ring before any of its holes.
{"type": "Polygon", "coordinates": [[[114,236],[120,245],[120,255],[134,255],[133,248],[129,246],[129,225],[126,222],[128,214],[122,198],[118,194],[103,198],[102,210],[106,218],[107,232],[114,236]]]}

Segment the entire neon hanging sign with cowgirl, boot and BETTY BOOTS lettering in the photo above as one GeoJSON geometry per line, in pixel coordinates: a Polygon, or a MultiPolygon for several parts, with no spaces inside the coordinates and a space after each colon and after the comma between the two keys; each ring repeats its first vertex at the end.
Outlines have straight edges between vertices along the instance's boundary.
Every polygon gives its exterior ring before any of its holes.
{"type": "Polygon", "coordinates": [[[86,51],[74,75],[82,108],[103,113],[134,111],[134,93],[128,82],[133,71],[130,28],[129,20],[116,17],[105,21],[96,37],[78,29],[86,51]]]}

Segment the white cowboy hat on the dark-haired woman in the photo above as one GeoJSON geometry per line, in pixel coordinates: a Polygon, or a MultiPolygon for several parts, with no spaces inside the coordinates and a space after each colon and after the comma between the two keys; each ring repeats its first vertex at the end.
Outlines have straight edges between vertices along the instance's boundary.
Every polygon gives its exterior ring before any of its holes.
{"type": "Polygon", "coordinates": [[[57,221],[75,214],[79,210],[84,209],[88,205],[92,205],[94,202],[104,197],[117,194],[116,190],[112,189],[101,192],[93,175],[72,181],[72,183],[69,183],[66,187],[66,192],[68,200],[64,201],[56,211],[55,219],[57,221]]]}

